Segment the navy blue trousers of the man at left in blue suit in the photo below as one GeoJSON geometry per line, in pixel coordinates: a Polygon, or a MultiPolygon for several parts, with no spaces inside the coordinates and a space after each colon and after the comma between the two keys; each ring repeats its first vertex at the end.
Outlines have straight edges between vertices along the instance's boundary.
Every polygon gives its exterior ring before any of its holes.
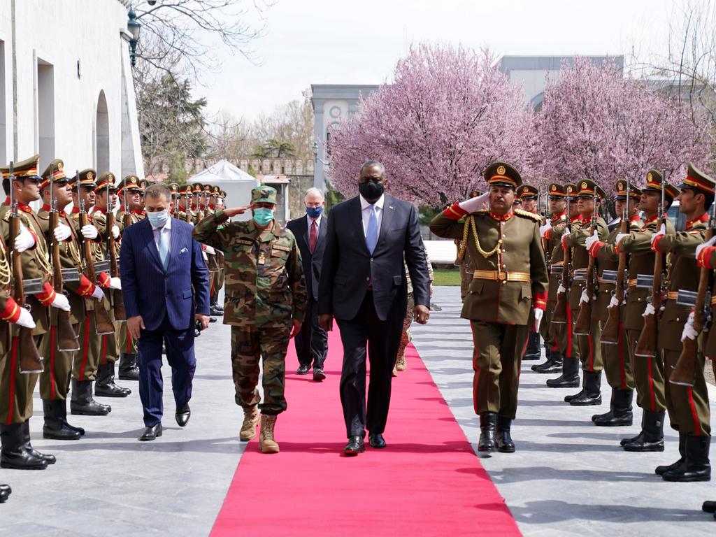
{"type": "Polygon", "coordinates": [[[167,350],[167,362],[172,368],[172,391],[177,408],[191,399],[192,381],[196,369],[194,356],[194,328],[176,330],[164,316],[155,330],[142,330],[137,341],[139,365],[139,396],[144,409],[144,425],[153,427],[164,413],[162,378],[162,343],[167,350]]]}

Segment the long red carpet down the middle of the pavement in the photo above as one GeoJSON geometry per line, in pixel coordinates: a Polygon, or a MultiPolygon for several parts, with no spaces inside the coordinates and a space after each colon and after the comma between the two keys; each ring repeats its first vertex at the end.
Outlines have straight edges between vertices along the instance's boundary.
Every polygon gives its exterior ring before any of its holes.
{"type": "Polygon", "coordinates": [[[276,422],[281,453],[263,455],[258,436],[251,440],[211,536],[520,535],[412,345],[409,369],[393,379],[387,448],[343,457],[337,330],[329,349],[328,377],[317,384],[295,374],[291,342],[289,409],[276,422]]]}

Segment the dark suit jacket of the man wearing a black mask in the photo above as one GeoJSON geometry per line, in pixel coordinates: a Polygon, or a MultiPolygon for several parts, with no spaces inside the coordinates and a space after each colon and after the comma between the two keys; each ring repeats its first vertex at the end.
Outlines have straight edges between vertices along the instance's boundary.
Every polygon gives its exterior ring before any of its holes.
{"type": "Polygon", "coordinates": [[[385,195],[378,243],[371,256],[365,243],[360,198],[336,205],[328,218],[319,314],[353,319],[372,278],[378,318],[403,319],[407,306],[404,253],[415,304],[429,306],[430,280],[415,207],[385,195]]]}

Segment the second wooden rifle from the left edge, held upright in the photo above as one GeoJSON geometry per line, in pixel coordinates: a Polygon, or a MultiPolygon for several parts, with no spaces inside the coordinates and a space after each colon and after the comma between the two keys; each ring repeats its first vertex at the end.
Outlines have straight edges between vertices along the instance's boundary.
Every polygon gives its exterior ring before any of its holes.
{"type": "MultiPolygon", "coordinates": [[[[57,211],[57,199],[54,197],[54,170],[52,164],[49,168],[49,233],[47,233],[48,250],[50,253],[50,265],[52,266],[52,288],[57,294],[64,294],[64,274],[62,261],[59,259],[59,241],[54,237],[54,231],[59,224],[59,211],[57,211]]],[[[69,269],[66,274],[77,274],[77,270],[69,269]]],[[[70,276],[72,277],[72,276],[70,276]]],[[[77,274],[79,279],[79,274],[77,274]]],[[[77,334],[72,328],[72,321],[69,319],[70,312],[64,309],[54,308],[50,311],[50,321],[57,329],[57,350],[70,352],[79,350],[77,334]]]]}

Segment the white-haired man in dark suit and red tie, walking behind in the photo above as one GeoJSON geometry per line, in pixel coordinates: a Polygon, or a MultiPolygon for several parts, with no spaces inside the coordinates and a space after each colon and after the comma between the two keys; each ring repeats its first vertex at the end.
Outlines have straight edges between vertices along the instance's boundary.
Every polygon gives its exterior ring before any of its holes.
{"type": "Polygon", "coordinates": [[[291,220],[286,227],[296,236],[301,251],[301,261],[306,276],[306,290],[309,301],[306,304],[306,317],[301,333],[294,339],[296,354],[299,357],[297,374],[308,374],[311,364],[314,380],[321,382],[326,378],[323,362],[328,352],[328,334],[318,324],[318,282],[321,278],[321,263],[326,248],[328,223],[323,216],[326,202],[318,188],[306,190],[306,215],[291,220]]]}

